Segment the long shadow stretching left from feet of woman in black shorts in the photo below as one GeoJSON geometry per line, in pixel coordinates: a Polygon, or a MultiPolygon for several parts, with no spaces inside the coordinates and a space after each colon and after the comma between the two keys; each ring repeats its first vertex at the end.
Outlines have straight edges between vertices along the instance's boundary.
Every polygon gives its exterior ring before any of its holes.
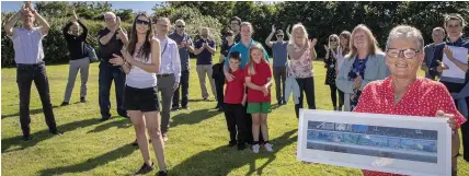
{"type": "Polygon", "coordinates": [[[104,153],[101,156],[89,159],[83,163],[70,165],[70,166],[60,166],[56,168],[48,168],[41,171],[37,173],[41,176],[49,176],[49,175],[64,175],[69,173],[82,173],[94,169],[99,166],[105,165],[108,162],[119,160],[122,157],[126,157],[134,153],[134,151],[138,150],[138,148],[134,148],[129,144],[124,144],[118,149],[104,153]]]}

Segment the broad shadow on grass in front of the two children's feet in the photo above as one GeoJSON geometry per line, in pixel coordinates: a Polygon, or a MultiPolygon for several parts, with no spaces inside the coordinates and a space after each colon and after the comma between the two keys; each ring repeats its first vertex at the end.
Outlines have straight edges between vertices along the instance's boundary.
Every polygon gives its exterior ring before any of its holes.
{"type": "MultiPolygon", "coordinates": [[[[275,161],[275,154],[283,148],[294,143],[297,137],[291,137],[297,130],[285,132],[282,137],[270,140],[274,144],[274,152],[268,153],[261,146],[259,154],[252,153],[251,148],[243,151],[238,151],[234,148],[226,145],[219,146],[214,150],[203,151],[194,156],[183,161],[181,164],[170,168],[171,175],[191,175],[191,176],[205,176],[205,175],[228,175],[232,169],[249,165],[249,172],[245,175],[256,173],[262,175],[263,169],[275,161]],[[268,159],[266,163],[261,166],[255,165],[259,159],[268,159]]],[[[250,146],[250,145],[248,145],[250,146]]]]}

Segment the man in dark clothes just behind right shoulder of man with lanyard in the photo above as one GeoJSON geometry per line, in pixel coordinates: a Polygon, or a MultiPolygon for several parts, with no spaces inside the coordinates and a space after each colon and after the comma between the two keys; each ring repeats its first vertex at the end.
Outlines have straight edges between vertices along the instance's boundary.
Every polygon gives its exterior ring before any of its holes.
{"type": "Polygon", "coordinates": [[[180,108],[180,90],[181,90],[181,107],[184,109],[188,109],[187,102],[188,102],[188,75],[190,75],[190,52],[194,52],[194,45],[191,39],[191,36],[188,36],[187,33],[185,33],[185,22],[183,20],[176,20],[175,21],[175,32],[169,35],[171,39],[176,42],[178,48],[179,48],[179,56],[181,58],[181,82],[180,86],[174,92],[173,95],[173,103],[171,110],[178,110],[180,108]],[[181,87],[181,89],[180,89],[181,87]]]}

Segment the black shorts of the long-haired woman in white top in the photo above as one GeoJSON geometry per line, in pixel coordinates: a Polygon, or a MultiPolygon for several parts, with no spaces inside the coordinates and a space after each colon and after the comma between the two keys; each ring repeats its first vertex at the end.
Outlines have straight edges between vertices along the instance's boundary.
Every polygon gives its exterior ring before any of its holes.
{"type": "Polygon", "coordinates": [[[146,112],[160,112],[158,87],[136,89],[125,85],[124,109],[146,112]]]}

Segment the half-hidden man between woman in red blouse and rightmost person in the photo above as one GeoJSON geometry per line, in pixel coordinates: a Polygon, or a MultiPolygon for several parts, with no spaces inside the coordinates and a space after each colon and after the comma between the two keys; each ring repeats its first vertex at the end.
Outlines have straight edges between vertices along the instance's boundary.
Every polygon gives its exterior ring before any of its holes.
{"type": "Polygon", "coordinates": [[[443,43],[443,40],[445,39],[445,35],[446,35],[445,30],[443,30],[442,27],[433,28],[433,32],[432,32],[433,44],[428,44],[423,49],[425,52],[425,58],[422,62],[421,69],[425,71],[425,78],[427,79],[435,80],[435,77],[432,77],[428,74],[428,66],[432,64],[433,62],[435,46],[443,43]]]}

